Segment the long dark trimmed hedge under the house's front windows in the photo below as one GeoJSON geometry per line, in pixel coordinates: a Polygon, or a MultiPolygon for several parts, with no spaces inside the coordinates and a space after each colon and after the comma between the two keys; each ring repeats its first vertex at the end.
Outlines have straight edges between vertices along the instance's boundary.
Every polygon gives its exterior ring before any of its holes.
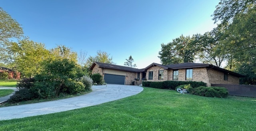
{"type": "Polygon", "coordinates": [[[143,81],[142,86],[144,87],[152,87],[158,89],[175,89],[179,85],[188,85],[196,88],[200,86],[206,86],[206,83],[200,81],[162,81],[162,82],[152,82],[152,81],[143,81]]]}

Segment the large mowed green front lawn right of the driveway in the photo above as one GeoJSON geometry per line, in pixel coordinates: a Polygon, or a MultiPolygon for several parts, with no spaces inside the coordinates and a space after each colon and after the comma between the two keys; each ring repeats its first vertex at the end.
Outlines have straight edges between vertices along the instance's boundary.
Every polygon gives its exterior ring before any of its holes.
{"type": "Polygon", "coordinates": [[[0,121],[1,131],[253,131],[256,98],[210,98],[144,87],[100,105],[0,121]]]}

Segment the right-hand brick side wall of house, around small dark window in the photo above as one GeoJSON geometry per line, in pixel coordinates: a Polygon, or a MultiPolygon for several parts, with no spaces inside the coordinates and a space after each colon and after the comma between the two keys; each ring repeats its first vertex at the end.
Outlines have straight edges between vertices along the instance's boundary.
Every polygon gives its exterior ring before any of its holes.
{"type": "Polygon", "coordinates": [[[228,80],[224,80],[224,73],[214,69],[208,70],[209,83],[213,84],[239,84],[239,77],[228,74],[228,80]]]}

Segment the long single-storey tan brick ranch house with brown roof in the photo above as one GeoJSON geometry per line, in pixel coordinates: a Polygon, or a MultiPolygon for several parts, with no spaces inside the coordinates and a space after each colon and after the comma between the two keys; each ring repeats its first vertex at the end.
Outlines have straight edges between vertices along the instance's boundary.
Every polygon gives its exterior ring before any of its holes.
{"type": "Polygon", "coordinates": [[[238,73],[211,65],[200,63],[181,63],[161,65],[152,63],[144,69],[136,69],[121,65],[94,62],[90,67],[92,74],[100,73],[106,83],[130,85],[135,78],[135,85],[147,81],[203,81],[207,86],[214,84],[239,84],[238,73]]]}

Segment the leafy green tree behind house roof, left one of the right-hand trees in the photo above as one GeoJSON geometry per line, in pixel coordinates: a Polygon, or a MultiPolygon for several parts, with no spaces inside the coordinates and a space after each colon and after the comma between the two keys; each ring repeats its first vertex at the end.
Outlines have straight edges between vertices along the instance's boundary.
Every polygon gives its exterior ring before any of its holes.
{"type": "Polygon", "coordinates": [[[193,62],[197,48],[191,45],[192,39],[194,39],[194,36],[190,38],[190,36],[184,37],[182,35],[179,38],[173,39],[172,42],[166,45],[161,44],[162,48],[159,52],[160,56],[158,56],[161,63],[168,65],[183,62],[193,62]]]}

